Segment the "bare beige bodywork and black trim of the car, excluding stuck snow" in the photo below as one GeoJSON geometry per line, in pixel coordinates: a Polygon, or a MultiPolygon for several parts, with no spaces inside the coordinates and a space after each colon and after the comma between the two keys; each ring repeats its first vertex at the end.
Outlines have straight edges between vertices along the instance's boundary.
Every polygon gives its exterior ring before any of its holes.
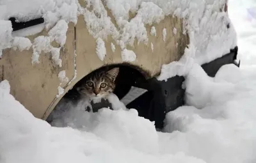
{"type": "MultiPolygon", "coordinates": [[[[83,0],[79,0],[79,4],[90,12],[92,6],[88,8],[83,0]]],[[[223,10],[227,12],[227,4],[220,5],[219,12],[223,10]]],[[[107,4],[104,8],[117,31],[124,30],[118,27],[115,15],[107,4]]],[[[136,18],[136,15],[138,11],[131,12],[129,20],[136,18]]],[[[81,14],[77,17],[76,24],[68,23],[67,40],[64,45],[58,40],[50,42],[52,49],[60,50],[61,60],[54,58],[52,50],[49,52],[39,50],[38,62],[31,63],[31,56],[36,50],[36,38],[47,37],[50,29],[26,36],[32,43],[34,42],[29,49],[21,52],[15,48],[4,49],[0,60],[0,79],[7,79],[10,82],[12,95],[35,117],[46,120],[61,98],[83,77],[102,66],[120,66],[122,68],[119,74],[122,76],[120,80],[123,80],[120,81],[122,84],[116,88],[118,97],[124,97],[131,86],[135,86],[134,84],[148,89],[148,93],[129,105],[140,108],[141,116],[155,120],[156,125],[161,127],[164,114],[184,104],[184,90],[181,87],[184,77],[172,77],[166,82],[156,80],[157,75],[161,73],[162,65],[179,61],[189,45],[188,32],[184,33],[186,25],[184,19],[174,15],[164,15],[159,22],[145,23],[147,43],[135,39],[133,44],[127,44],[125,49],[122,42],[117,42],[113,36],[95,38],[85,19],[86,15],[81,14]],[[166,31],[168,31],[167,35],[166,31]],[[100,54],[102,42],[106,56],[100,54]],[[143,104],[143,101],[147,101],[147,104],[143,104]]],[[[15,22],[15,17],[10,20],[13,32],[44,23],[43,18],[27,20],[24,24],[15,22]]],[[[219,59],[214,58],[215,60],[212,59],[211,62],[202,66],[209,75],[214,75],[221,65],[233,63],[236,54],[237,48],[231,49],[229,54],[219,59]]],[[[35,59],[33,57],[32,60],[35,59]]]]}

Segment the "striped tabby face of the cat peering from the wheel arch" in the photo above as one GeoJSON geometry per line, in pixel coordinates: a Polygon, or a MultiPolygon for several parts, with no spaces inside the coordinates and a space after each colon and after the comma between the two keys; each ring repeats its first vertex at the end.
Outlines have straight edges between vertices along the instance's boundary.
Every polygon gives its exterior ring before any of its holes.
{"type": "Polygon", "coordinates": [[[86,97],[105,97],[115,89],[115,79],[119,68],[113,68],[108,72],[95,72],[77,90],[86,97]]]}

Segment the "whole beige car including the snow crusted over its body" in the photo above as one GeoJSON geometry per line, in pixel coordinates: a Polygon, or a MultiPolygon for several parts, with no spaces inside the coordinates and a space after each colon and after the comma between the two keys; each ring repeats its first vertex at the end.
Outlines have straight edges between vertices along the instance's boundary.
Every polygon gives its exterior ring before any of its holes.
{"type": "Polygon", "coordinates": [[[117,97],[132,86],[146,89],[126,106],[162,128],[165,114],[184,105],[184,75],[159,79],[168,65],[179,65],[191,50],[211,77],[225,64],[240,64],[227,1],[51,2],[38,1],[31,13],[4,2],[16,9],[0,20],[0,79],[36,118],[47,120],[86,75],[118,66],[117,97]]]}

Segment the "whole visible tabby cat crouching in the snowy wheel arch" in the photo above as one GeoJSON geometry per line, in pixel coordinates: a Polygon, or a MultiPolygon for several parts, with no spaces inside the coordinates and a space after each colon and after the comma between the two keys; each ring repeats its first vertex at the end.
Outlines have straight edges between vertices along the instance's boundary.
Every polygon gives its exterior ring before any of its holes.
{"type": "Polygon", "coordinates": [[[77,87],[79,94],[90,102],[90,107],[87,107],[87,111],[92,109],[93,112],[96,112],[102,107],[113,109],[106,97],[113,93],[118,73],[118,67],[107,71],[93,72],[77,87]]]}

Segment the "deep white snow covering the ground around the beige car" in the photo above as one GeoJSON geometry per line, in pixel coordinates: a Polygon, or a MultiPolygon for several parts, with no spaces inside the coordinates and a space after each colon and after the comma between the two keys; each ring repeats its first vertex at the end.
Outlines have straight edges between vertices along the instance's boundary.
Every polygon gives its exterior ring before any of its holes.
{"type": "Polygon", "coordinates": [[[63,115],[65,123],[55,123],[72,128],[51,127],[1,82],[0,162],[256,162],[256,17],[248,12],[253,5],[253,0],[229,0],[241,68],[223,66],[209,78],[194,64],[184,83],[193,106],[168,113],[164,132],[134,109],[82,113],[77,107],[63,115]]]}

